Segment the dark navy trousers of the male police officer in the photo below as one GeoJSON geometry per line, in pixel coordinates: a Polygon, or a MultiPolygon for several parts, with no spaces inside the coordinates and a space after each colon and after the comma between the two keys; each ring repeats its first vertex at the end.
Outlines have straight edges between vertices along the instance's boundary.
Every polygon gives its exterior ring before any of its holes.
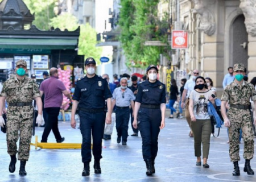
{"type": "Polygon", "coordinates": [[[88,113],[85,111],[79,111],[80,117],[80,131],[82,134],[82,162],[90,162],[92,160],[92,151],[94,160],[100,160],[102,158],[102,137],[104,134],[106,113],[101,111],[100,113],[88,113]],[[93,150],[91,149],[91,143],[93,138],[93,150]]]}

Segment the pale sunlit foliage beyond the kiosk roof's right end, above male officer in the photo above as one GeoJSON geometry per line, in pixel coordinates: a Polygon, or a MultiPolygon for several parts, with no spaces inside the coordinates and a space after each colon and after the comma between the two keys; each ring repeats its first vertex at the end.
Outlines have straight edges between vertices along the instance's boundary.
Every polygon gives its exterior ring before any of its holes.
{"type": "MultiPolygon", "coordinates": [[[[74,31],[79,27],[77,22],[78,20],[75,16],[66,13],[52,18],[49,25],[55,28],[58,27],[60,30],[67,29],[69,31],[74,31]]],[[[85,58],[93,57],[97,61],[97,64],[100,64],[102,48],[96,47],[96,35],[96,31],[89,25],[89,23],[80,25],[79,55],[85,55],[85,58]]]]}

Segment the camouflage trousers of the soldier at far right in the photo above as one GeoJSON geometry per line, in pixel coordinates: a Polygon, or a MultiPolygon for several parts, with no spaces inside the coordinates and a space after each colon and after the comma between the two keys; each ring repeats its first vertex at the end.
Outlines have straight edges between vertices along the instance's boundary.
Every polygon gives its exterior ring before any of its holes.
{"type": "MultiPolygon", "coordinates": [[[[230,108],[231,110],[231,108],[230,108]]],[[[232,108],[233,110],[233,108],[232,108]]],[[[253,127],[249,110],[232,111],[228,114],[230,120],[229,128],[229,156],[231,162],[240,161],[239,156],[239,135],[242,129],[242,137],[244,142],[243,158],[253,159],[254,155],[254,140],[253,127]]]]}

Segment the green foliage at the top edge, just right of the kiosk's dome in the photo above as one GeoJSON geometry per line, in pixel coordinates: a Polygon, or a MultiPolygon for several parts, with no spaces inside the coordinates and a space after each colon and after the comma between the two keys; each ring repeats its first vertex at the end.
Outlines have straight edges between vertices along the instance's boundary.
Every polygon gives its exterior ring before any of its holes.
{"type": "Polygon", "coordinates": [[[50,19],[55,17],[54,8],[58,0],[23,0],[31,13],[35,13],[32,22],[40,30],[49,30],[50,19]]]}

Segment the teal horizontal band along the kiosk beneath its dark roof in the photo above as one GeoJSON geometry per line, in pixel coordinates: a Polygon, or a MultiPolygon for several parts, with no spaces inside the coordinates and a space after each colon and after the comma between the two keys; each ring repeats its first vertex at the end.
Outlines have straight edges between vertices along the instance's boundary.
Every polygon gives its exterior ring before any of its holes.
{"type": "Polygon", "coordinates": [[[0,49],[75,49],[78,39],[13,39],[0,38],[0,49]]]}

